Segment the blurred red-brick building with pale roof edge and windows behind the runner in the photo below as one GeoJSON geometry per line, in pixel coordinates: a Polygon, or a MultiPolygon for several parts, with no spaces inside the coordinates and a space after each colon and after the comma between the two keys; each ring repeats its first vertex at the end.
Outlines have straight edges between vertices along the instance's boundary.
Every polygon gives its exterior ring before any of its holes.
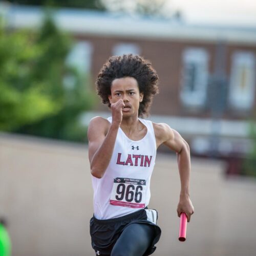
{"type": "MultiPolygon", "coordinates": [[[[3,13],[15,29],[34,29],[42,17],[35,7],[9,6],[3,13]]],[[[71,61],[94,80],[111,55],[150,59],[160,77],[150,118],[178,130],[195,154],[248,151],[247,121],[256,108],[256,25],[196,26],[178,19],[71,9],[57,10],[55,19],[76,38],[71,61]]],[[[95,111],[104,110],[99,100],[95,111]]],[[[87,114],[84,122],[93,115],[87,114]]]]}

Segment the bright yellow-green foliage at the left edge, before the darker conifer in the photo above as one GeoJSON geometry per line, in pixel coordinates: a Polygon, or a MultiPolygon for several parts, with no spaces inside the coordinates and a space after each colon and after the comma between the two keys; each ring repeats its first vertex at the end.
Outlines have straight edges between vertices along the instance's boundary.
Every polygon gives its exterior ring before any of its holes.
{"type": "Polygon", "coordinates": [[[7,33],[0,26],[0,130],[14,131],[60,110],[44,93],[44,81],[31,79],[31,69],[40,55],[31,35],[7,33]]]}

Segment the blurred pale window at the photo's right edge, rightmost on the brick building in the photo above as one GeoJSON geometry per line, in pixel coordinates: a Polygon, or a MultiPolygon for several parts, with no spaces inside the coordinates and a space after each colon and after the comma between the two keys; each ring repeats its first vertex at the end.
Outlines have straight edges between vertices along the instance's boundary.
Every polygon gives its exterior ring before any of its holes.
{"type": "Polygon", "coordinates": [[[229,105],[233,109],[250,110],[254,102],[255,58],[251,52],[235,52],[232,56],[229,105]]]}

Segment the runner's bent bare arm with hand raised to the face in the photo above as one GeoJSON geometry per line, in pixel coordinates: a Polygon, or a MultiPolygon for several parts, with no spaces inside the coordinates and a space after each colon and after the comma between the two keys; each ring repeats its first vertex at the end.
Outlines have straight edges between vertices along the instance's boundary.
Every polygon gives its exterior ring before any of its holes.
{"type": "Polygon", "coordinates": [[[123,101],[111,105],[112,123],[102,117],[95,117],[88,127],[89,161],[91,174],[96,178],[102,178],[108,167],[119,126],[122,121],[123,101]]]}

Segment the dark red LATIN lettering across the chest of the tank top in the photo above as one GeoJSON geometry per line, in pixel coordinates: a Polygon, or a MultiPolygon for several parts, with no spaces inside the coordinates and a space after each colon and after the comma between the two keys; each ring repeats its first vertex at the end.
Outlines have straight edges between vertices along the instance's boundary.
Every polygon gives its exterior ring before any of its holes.
{"type": "Polygon", "coordinates": [[[151,160],[152,156],[128,154],[127,157],[124,157],[122,153],[118,153],[116,164],[150,167],[151,160]]]}

